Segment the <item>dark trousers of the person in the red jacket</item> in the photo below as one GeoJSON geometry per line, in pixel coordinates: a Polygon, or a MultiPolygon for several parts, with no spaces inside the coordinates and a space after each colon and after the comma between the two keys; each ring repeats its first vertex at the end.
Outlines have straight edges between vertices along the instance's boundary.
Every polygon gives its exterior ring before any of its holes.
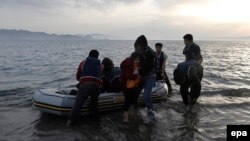
{"type": "Polygon", "coordinates": [[[123,91],[125,97],[123,110],[128,111],[131,105],[134,105],[135,109],[138,108],[138,93],[136,88],[127,89],[123,91]]]}

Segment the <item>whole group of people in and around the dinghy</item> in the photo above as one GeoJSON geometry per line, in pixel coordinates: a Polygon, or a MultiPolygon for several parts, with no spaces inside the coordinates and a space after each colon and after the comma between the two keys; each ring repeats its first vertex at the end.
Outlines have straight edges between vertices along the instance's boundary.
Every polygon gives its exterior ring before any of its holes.
{"type": "MultiPolygon", "coordinates": [[[[203,75],[202,56],[200,47],[193,43],[191,34],[186,34],[183,38],[186,45],[183,54],[186,60],[178,64],[174,70],[174,80],[176,84],[180,85],[184,104],[191,109],[200,95],[200,81],[203,75]]],[[[167,55],[162,51],[162,47],[162,43],[156,43],[154,51],[148,46],[146,37],[141,35],[134,43],[134,52],[121,62],[120,67],[114,67],[110,58],[104,58],[101,62],[98,59],[99,52],[91,50],[88,57],[78,66],[76,73],[76,79],[79,81],[78,91],[67,124],[70,125],[75,121],[88,97],[91,99],[91,115],[98,116],[98,96],[105,91],[123,92],[125,98],[123,120],[128,122],[129,107],[134,105],[135,111],[138,110],[138,97],[143,89],[148,119],[154,121],[151,101],[154,82],[163,80],[166,82],[169,92],[172,91],[165,72],[167,55]]]]}

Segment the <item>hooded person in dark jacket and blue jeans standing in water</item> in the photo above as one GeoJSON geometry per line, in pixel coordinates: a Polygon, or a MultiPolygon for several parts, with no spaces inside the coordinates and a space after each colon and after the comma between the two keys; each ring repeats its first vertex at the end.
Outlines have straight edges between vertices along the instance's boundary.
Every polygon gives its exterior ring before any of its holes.
{"type": "Polygon", "coordinates": [[[134,43],[135,51],[141,54],[141,83],[138,86],[138,93],[144,89],[144,99],[147,107],[147,114],[150,122],[154,121],[153,104],[151,92],[155,80],[155,52],[148,46],[144,35],[139,36],[134,43]]]}

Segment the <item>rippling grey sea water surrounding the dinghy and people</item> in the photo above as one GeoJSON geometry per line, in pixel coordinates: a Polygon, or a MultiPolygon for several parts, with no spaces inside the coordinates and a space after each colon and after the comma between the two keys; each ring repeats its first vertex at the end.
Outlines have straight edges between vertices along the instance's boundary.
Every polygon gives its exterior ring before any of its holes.
{"type": "MultiPolygon", "coordinates": [[[[157,41],[150,41],[154,47],[157,41]]],[[[184,60],[182,41],[161,41],[168,55],[173,94],[154,105],[157,122],[122,122],[122,111],[98,121],[83,117],[67,128],[67,117],[41,114],[32,107],[40,88],[72,87],[79,62],[91,49],[115,65],[133,51],[134,41],[0,40],[0,140],[226,140],[226,125],[250,124],[250,42],[198,41],[204,57],[202,93],[186,113],[173,70],[184,60]]],[[[145,108],[140,108],[145,113],[145,108]]]]}

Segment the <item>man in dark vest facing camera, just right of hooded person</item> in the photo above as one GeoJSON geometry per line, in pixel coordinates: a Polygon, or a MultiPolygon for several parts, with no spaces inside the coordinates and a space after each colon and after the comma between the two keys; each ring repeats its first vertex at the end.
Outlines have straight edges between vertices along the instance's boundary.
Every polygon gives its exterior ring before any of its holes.
{"type": "Polygon", "coordinates": [[[167,55],[162,51],[162,43],[155,44],[156,50],[156,80],[165,80],[169,93],[172,92],[172,87],[165,71],[167,55]]]}

